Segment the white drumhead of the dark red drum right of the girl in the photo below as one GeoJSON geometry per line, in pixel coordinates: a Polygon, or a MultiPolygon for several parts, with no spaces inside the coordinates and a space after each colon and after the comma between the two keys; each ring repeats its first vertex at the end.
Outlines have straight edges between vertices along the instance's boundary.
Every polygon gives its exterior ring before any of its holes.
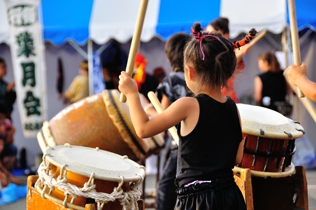
{"type": "Polygon", "coordinates": [[[268,108],[237,104],[242,132],[273,139],[296,139],[305,133],[303,127],[268,108]]]}

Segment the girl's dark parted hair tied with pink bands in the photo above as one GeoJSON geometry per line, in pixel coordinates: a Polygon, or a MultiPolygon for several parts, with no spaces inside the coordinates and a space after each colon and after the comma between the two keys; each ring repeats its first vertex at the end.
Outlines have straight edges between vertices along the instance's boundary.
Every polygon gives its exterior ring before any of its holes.
{"type": "Polygon", "coordinates": [[[187,43],[184,51],[186,64],[193,65],[201,85],[227,86],[227,81],[232,77],[237,63],[232,42],[222,37],[220,33],[201,33],[202,28],[199,23],[194,24],[193,31],[199,34],[199,38],[193,37],[187,43]]]}

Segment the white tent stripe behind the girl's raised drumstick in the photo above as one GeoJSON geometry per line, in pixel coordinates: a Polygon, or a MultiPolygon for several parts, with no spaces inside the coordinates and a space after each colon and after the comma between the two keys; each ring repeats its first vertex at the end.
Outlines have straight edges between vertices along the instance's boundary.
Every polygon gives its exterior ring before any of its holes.
{"type": "MultiPolygon", "coordinates": [[[[159,3],[159,0],[148,2],[142,30],[143,42],[157,35],[159,3]]],[[[138,7],[139,0],[95,0],[89,24],[90,39],[98,44],[112,38],[118,42],[127,42],[134,33],[138,7]]]]}

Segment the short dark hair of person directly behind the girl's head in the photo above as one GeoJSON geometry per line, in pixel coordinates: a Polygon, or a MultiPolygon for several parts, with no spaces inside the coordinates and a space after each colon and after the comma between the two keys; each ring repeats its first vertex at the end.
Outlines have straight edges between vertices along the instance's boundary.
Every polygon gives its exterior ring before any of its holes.
{"type": "Polygon", "coordinates": [[[190,36],[185,33],[178,33],[166,42],[164,50],[172,69],[183,72],[183,51],[190,36]]]}

